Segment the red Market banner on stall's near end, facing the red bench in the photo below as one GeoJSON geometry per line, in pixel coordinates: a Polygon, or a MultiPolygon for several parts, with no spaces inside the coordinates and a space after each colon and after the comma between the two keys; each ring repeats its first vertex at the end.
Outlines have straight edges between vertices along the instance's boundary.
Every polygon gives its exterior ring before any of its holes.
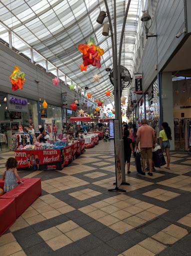
{"type": "Polygon", "coordinates": [[[16,150],[17,167],[33,168],[37,165],[50,164],[60,161],[60,150],[16,150]]]}

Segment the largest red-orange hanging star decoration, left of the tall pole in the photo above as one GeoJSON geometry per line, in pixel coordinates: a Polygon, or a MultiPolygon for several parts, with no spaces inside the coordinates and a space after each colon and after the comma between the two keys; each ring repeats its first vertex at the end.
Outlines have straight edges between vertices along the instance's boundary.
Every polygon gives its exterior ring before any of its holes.
{"type": "Polygon", "coordinates": [[[80,65],[81,71],[86,71],[88,65],[100,68],[100,57],[104,51],[99,46],[95,45],[93,38],[89,38],[87,44],[79,44],[78,50],[82,53],[83,63],[80,65]]]}

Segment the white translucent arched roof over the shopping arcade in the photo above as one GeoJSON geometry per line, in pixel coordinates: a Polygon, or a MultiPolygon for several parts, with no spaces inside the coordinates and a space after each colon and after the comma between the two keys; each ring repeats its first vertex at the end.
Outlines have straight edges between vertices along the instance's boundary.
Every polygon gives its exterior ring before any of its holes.
{"type": "MultiPolygon", "coordinates": [[[[117,44],[119,45],[122,22],[128,1],[116,0],[117,44]]],[[[122,46],[121,65],[132,73],[135,56],[135,41],[141,0],[131,0],[122,46]]],[[[113,1],[108,0],[113,21],[113,1]]],[[[106,67],[112,68],[111,38],[102,36],[102,26],[96,23],[99,12],[106,11],[103,0],[1,0],[0,38],[8,42],[8,31],[12,31],[12,46],[30,58],[30,48],[34,50],[33,60],[56,74],[60,79],[71,80],[81,88],[89,87],[94,98],[113,101],[105,96],[106,90],[113,90],[106,67]],[[104,49],[101,68],[88,66],[81,72],[82,57],[78,44],[87,43],[89,37],[104,49]],[[98,74],[99,82],[92,76],[98,74]]],[[[104,23],[108,23],[105,18],[104,23]]]]}

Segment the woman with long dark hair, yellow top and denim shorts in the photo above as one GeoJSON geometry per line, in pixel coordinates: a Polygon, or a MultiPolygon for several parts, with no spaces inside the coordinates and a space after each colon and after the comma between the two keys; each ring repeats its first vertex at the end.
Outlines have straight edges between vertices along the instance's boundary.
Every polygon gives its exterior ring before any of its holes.
{"type": "Polygon", "coordinates": [[[170,170],[170,142],[171,140],[171,129],[167,122],[162,122],[162,130],[159,133],[160,137],[160,147],[165,150],[167,158],[166,169],[170,170]]]}

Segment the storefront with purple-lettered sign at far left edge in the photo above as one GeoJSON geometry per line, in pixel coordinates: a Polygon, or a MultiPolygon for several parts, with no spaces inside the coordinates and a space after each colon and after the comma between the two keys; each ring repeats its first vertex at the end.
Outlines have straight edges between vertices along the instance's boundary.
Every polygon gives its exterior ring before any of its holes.
{"type": "Polygon", "coordinates": [[[12,136],[28,125],[38,130],[36,101],[0,92],[0,150],[11,150],[12,136]]]}

